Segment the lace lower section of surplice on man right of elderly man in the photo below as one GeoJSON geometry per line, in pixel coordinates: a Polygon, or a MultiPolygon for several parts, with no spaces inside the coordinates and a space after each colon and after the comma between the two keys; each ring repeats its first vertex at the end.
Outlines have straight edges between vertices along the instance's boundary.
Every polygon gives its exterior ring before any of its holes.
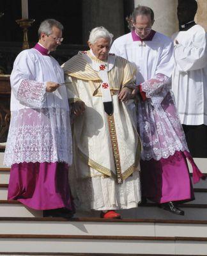
{"type": "Polygon", "coordinates": [[[160,160],[176,151],[188,151],[185,134],[176,111],[173,93],[169,92],[157,108],[150,100],[138,104],[137,128],[141,135],[142,160],[160,160]]]}

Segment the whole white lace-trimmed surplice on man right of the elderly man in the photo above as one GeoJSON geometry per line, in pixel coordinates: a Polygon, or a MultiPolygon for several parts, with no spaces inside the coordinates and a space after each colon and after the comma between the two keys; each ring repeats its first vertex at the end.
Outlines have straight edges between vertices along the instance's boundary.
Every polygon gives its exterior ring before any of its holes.
{"type": "Polygon", "coordinates": [[[153,39],[133,41],[132,34],[114,41],[111,52],[137,66],[137,84],[146,92],[145,101],[138,103],[137,129],[142,141],[142,159],[160,160],[176,150],[188,150],[185,134],[174,106],[169,77],[173,72],[173,42],[158,32],[153,39]]]}

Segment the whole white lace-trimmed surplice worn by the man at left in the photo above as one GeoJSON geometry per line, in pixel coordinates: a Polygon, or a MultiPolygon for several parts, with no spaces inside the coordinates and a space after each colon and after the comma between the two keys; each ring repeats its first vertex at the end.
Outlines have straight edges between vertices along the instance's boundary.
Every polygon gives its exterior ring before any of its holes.
{"type": "Polygon", "coordinates": [[[64,83],[54,58],[35,49],[20,52],[11,72],[11,122],[4,164],[72,163],[72,136],[65,86],[45,92],[47,81],[64,83]],[[50,68],[49,68],[50,67],[50,68]]]}

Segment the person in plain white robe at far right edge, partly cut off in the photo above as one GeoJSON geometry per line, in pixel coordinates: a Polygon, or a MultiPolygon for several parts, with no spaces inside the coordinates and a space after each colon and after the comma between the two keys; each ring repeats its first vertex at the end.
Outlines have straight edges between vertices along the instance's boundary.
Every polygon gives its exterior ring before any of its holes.
{"type": "Polygon", "coordinates": [[[195,0],[179,1],[173,92],[190,153],[207,157],[207,33],[195,24],[196,11],[195,0]]]}

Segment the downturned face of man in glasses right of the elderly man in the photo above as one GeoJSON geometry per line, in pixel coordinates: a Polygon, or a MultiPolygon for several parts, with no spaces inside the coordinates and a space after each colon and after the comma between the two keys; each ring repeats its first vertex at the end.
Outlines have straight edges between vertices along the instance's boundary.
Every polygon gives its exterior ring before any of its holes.
{"type": "Polygon", "coordinates": [[[137,35],[139,35],[141,39],[144,39],[150,35],[153,23],[154,20],[151,20],[150,15],[138,15],[136,17],[136,22],[133,23],[133,25],[137,35]]]}

